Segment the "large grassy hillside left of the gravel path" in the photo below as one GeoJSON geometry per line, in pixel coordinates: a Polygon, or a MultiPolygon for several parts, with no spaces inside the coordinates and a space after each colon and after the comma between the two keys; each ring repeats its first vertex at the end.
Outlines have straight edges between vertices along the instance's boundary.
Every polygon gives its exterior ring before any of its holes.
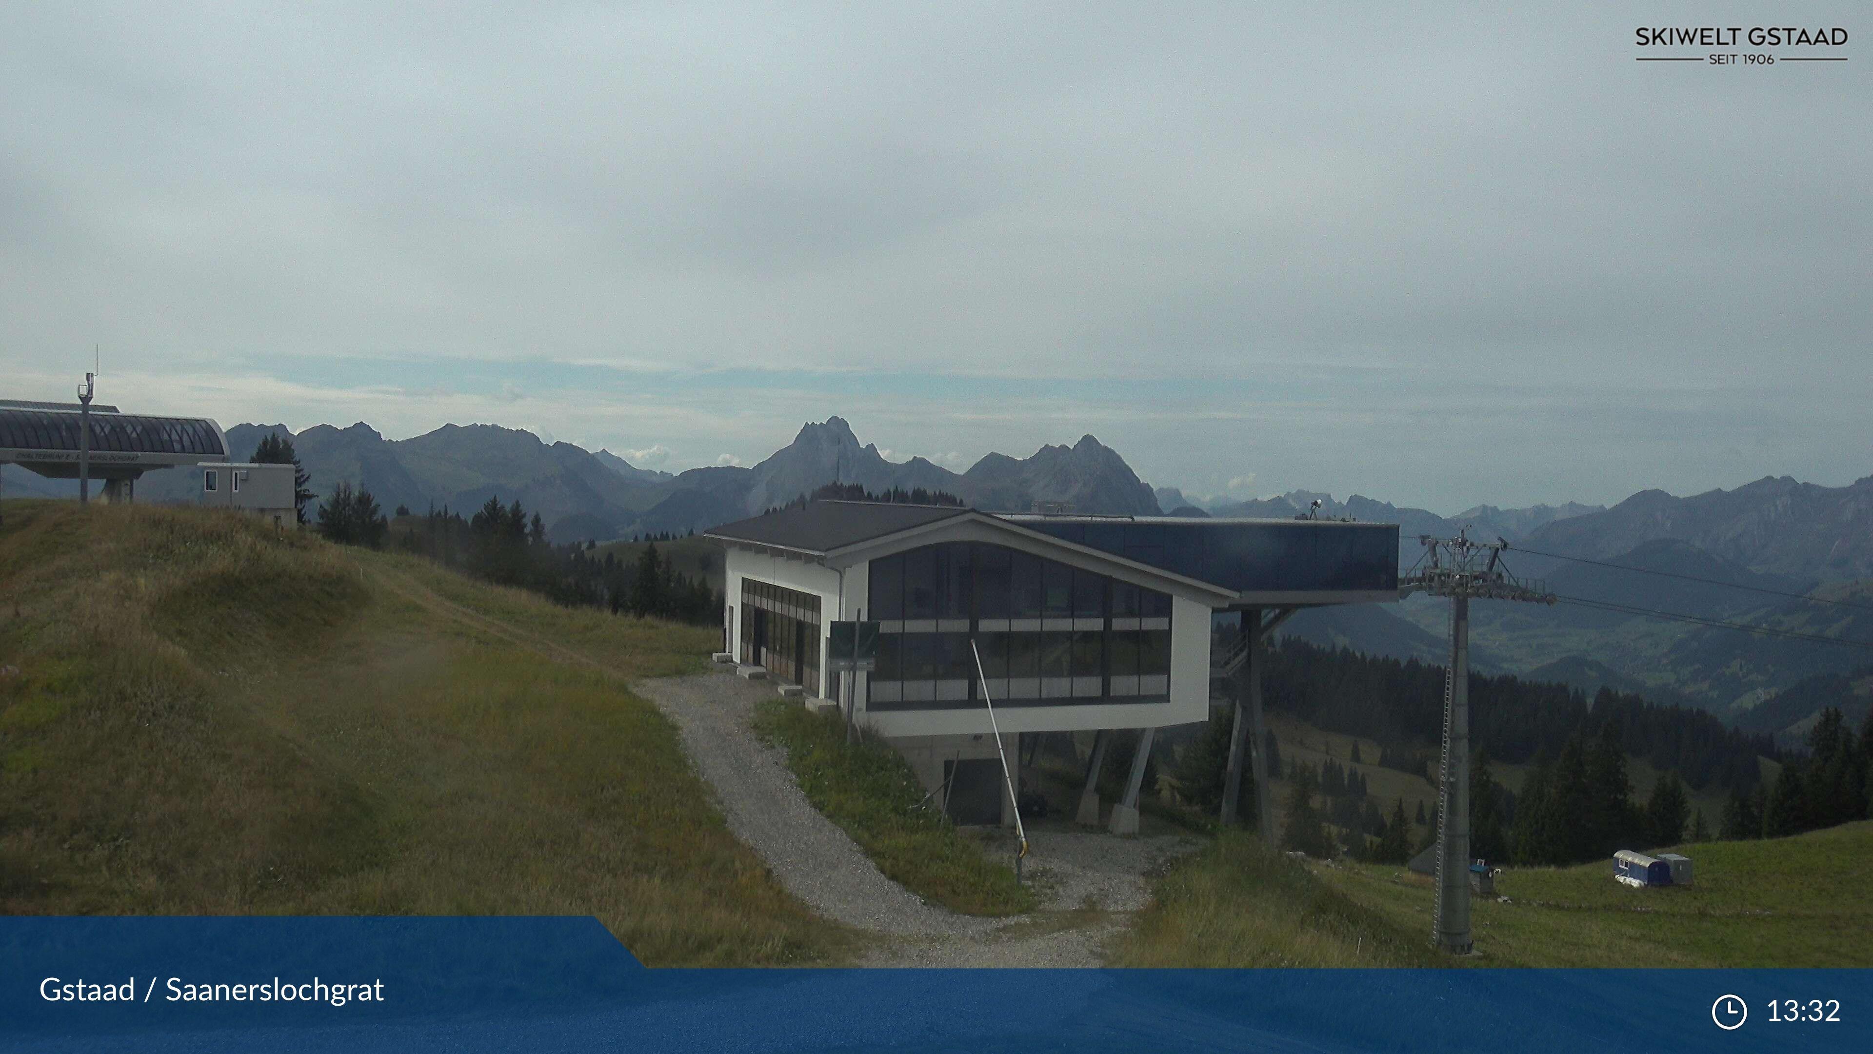
{"type": "Polygon", "coordinates": [[[839,955],[629,677],[715,630],[214,510],[6,503],[0,911],[597,915],[650,964],[839,955]]]}

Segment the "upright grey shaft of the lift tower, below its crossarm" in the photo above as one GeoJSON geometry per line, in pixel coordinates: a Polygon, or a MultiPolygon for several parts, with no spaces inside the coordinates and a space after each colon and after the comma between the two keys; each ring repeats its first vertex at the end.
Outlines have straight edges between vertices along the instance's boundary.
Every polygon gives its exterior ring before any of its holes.
{"type": "Polygon", "coordinates": [[[1470,598],[1450,598],[1450,690],[1437,838],[1437,943],[1470,951],[1470,598]]]}

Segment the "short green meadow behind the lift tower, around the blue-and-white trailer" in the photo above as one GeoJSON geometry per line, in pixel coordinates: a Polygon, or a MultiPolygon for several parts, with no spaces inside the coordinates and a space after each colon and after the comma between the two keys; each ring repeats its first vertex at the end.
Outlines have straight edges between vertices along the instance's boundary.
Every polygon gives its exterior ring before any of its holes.
{"type": "MultiPolygon", "coordinates": [[[[1472,900],[1483,966],[1873,966],[1873,821],[1792,838],[1676,846],[1689,889],[1631,889],[1611,863],[1515,868],[1472,900]]],[[[1405,868],[1319,868],[1394,926],[1431,932],[1431,880],[1405,868]]]]}

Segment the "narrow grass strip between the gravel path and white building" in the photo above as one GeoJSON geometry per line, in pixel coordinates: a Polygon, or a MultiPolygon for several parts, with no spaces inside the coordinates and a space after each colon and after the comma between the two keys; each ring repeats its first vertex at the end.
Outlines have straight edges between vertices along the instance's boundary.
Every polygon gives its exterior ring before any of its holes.
{"type": "Polygon", "coordinates": [[[787,752],[813,808],[845,829],[892,881],[966,915],[1034,910],[1034,895],[1015,883],[1011,866],[983,857],[940,810],[916,808],[923,786],[897,750],[848,745],[839,715],[815,715],[787,700],[760,703],[755,728],[787,752]]]}

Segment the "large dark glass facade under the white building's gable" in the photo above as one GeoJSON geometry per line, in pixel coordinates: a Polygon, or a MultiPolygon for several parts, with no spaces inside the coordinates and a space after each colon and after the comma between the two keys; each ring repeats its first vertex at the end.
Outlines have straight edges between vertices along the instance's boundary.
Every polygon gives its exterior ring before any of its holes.
{"type": "Polygon", "coordinates": [[[869,707],[940,709],[1163,700],[1171,595],[985,542],[871,561],[878,619],[869,707]],[[981,679],[968,643],[981,653],[981,679]]]}

